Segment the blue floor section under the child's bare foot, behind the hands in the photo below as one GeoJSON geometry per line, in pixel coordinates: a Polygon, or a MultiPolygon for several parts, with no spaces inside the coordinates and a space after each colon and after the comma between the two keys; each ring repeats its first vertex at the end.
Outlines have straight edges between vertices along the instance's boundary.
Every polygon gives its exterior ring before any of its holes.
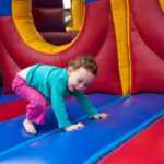
{"type": "MultiPolygon", "coordinates": [[[[89,98],[98,110],[106,105],[109,106],[113,103],[122,99],[116,95],[109,95],[109,94],[91,94],[89,95],[89,98]],[[94,101],[94,99],[98,99],[98,101],[94,101]]],[[[80,120],[86,117],[85,113],[78,105],[74,98],[66,101],[66,108],[72,121],[80,120]]],[[[22,126],[24,119],[25,116],[21,116],[0,124],[0,131],[1,131],[0,152],[7,151],[10,148],[15,147],[20,143],[37,139],[38,137],[54,129],[58,129],[57,120],[51,110],[51,107],[47,107],[46,124],[39,126],[36,125],[37,134],[35,137],[25,132],[22,126]]]]}

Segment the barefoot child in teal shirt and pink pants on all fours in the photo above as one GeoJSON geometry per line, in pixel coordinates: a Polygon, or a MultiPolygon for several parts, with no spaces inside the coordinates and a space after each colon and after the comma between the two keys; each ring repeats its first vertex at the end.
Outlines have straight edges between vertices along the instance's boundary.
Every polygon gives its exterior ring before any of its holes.
{"type": "Polygon", "coordinates": [[[38,63],[20,71],[12,82],[12,89],[28,101],[26,119],[23,122],[26,132],[35,134],[37,131],[34,122],[45,122],[47,102],[51,102],[59,128],[65,128],[66,131],[83,128],[83,124],[72,125],[68,119],[65,99],[71,95],[77,98],[90,119],[107,118],[108,115],[98,114],[83,94],[83,90],[94,81],[96,74],[97,65],[87,55],[70,61],[68,68],[38,63]]]}

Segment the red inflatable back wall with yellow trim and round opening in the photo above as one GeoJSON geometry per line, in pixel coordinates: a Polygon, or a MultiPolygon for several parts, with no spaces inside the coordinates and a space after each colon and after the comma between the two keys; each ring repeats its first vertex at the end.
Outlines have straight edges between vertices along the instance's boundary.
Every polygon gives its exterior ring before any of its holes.
{"type": "MultiPolygon", "coordinates": [[[[46,40],[47,35],[56,33],[44,27],[49,27],[42,21],[46,7],[51,14],[52,8],[62,10],[62,1],[44,1],[38,9],[38,0],[1,0],[0,62],[4,94],[12,93],[12,79],[21,69],[38,62],[67,67],[82,54],[92,55],[99,68],[85,93],[119,96],[164,93],[163,0],[72,1],[68,31],[79,33],[72,42],[60,46],[46,40]],[[78,12],[80,7],[82,10],[78,12]]],[[[65,32],[63,22],[58,24],[65,32]]]]}

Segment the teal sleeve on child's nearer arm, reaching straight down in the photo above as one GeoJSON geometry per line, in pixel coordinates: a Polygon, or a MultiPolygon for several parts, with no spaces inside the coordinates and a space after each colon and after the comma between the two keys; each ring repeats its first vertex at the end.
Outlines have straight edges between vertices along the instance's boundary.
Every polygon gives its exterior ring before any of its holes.
{"type": "Polygon", "coordinates": [[[60,86],[54,86],[51,89],[51,105],[52,110],[57,117],[59,128],[71,126],[72,124],[70,122],[66,112],[65,97],[60,86]]]}

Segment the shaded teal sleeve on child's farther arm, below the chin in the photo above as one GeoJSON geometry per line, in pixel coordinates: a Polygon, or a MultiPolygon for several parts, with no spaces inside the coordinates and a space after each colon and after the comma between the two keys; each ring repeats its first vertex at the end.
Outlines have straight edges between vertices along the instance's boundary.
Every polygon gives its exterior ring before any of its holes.
{"type": "Polygon", "coordinates": [[[87,114],[87,117],[90,119],[93,118],[96,114],[98,114],[96,108],[91,104],[87,96],[83,94],[83,91],[79,91],[79,92],[74,93],[74,97],[77,98],[80,106],[87,114]]]}

